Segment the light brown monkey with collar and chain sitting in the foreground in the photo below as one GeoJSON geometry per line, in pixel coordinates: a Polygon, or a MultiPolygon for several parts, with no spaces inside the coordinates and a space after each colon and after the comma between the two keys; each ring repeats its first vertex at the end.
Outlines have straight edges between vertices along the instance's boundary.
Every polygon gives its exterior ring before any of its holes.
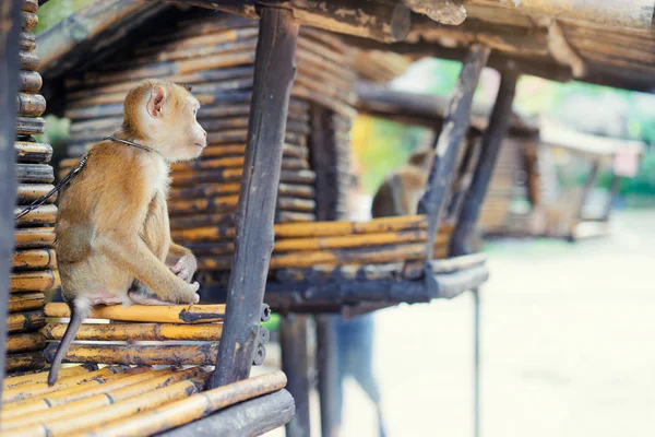
{"type": "Polygon", "coordinates": [[[48,385],[92,307],[199,302],[195,257],[170,240],[166,205],[169,164],[206,146],[199,107],[188,86],[142,82],[126,97],[122,128],[91,149],[61,193],[56,250],[71,320],[48,385]]]}

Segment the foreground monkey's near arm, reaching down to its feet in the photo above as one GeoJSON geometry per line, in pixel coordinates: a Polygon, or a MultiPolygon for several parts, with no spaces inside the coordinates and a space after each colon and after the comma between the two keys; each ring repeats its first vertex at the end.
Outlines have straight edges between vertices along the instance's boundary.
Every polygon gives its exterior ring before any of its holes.
{"type": "Polygon", "coordinates": [[[139,236],[110,233],[96,238],[96,245],[120,268],[130,272],[162,300],[172,304],[194,304],[198,283],[187,284],[176,276],[148,249],[139,236]]]}

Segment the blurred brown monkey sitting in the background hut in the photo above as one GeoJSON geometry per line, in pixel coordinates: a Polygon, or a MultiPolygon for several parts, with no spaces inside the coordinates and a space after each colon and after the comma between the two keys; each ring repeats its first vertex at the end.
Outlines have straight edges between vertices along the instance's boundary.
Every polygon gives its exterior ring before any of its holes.
{"type": "Polygon", "coordinates": [[[386,176],[373,197],[373,218],[416,214],[433,158],[432,147],[421,149],[409,156],[407,164],[386,176]]]}

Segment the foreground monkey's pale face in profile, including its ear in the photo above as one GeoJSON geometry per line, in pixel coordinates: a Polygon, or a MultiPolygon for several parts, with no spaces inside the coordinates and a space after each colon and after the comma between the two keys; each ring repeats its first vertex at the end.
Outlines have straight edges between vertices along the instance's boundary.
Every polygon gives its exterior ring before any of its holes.
{"type": "Polygon", "coordinates": [[[154,143],[167,161],[200,156],[207,145],[207,132],[196,120],[200,104],[178,85],[154,86],[146,104],[146,118],[154,143]]]}

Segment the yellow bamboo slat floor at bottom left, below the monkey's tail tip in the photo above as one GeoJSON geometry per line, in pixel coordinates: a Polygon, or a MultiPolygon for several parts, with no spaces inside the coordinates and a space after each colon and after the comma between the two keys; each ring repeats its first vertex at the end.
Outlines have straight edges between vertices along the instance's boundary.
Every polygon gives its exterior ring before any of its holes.
{"type": "MultiPolygon", "coordinates": [[[[55,387],[47,386],[46,375],[43,371],[5,379],[0,436],[155,435],[211,418],[231,405],[247,404],[245,401],[267,400],[281,393],[286,399],[283,406],[293,413],[293,399],[284,390],[286,377],[282,371],[212,390],[204,390],[211,371],[198,366],[114,366],[99,370],[75,366],[63,368],[55,387]]],[[[247,405],[239,405],[233,409],[251,414],[247,405]]],[[[284,415],[277,426],[288,420],[290,415],[284,415]]]]}

